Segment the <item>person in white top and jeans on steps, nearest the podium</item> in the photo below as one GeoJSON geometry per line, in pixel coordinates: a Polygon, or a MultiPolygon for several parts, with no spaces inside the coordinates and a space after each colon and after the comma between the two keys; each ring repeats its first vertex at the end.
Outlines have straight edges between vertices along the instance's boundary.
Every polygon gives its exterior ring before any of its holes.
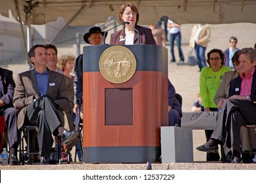
{"type": "Polygon", "coordinates": [[[169,28],[169,33],[170,33],[170,48],[171,48],[171,56],[172,56],[172,62],[175,62],[175,55],[174,55],[174,41],[176,41],[177,48],[179,50],[179,62],[183,63],[184,62],[184,56],[183,52],[181,50],[181,25],[175,24],[172,22],[172,20],[168,20],[167,24],[169,28]]]}

